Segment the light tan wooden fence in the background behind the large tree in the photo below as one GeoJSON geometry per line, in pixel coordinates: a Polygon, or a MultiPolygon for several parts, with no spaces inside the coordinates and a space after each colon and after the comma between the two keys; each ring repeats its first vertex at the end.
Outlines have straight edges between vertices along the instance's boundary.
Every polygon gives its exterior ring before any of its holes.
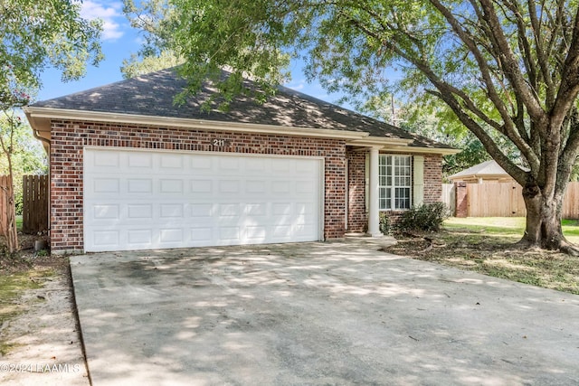
{"type": "MultiPolygon", "coordinates": [[[[465,189],[465,188],[462,188],[465,189]]],[[[442,185],[442,202],[457,217],[524,217],[523,189],[517,183],[466,184],[466,196],[455,184],[442,185]],[[458,196],[458,199],[457,199],[458,196]],[[458,200],[458,202],[457,202],[458,200]]],[[[563,218],[579,219],[579,183],[569,183],[563,200],[563,218]]]]}

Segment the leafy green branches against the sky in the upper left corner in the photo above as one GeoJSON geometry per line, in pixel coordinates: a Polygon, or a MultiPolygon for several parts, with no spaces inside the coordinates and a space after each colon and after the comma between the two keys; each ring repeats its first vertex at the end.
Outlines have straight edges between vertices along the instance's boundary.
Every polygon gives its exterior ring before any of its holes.
{"type": "MultiPolygon", "coordinates": [[[[73,0],[2,0],[0,9],[0,103],[11,106],[12,89],[38,89],[47,66],[76,80],[86,63],[102,60],[99,22],[80,16],[73,0]]],[[[17,106],[19,101],[14,102],[17,106]]]]}

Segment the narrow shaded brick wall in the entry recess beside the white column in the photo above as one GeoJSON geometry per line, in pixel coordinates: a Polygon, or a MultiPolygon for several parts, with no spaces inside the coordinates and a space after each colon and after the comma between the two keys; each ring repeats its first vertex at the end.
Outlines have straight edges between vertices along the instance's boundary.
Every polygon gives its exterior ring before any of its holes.
{"type": "Polygon", "coordinates": [[[365,232],[368,217],[365,212],[365,152],[346,147],[348,165],[347,231],[365,232]]]}

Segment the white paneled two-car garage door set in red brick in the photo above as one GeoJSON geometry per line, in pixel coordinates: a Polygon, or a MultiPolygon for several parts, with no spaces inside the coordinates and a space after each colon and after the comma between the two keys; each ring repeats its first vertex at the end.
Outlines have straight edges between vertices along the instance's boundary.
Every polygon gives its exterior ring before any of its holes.
{"type": "Polygon", "coordinates": [[[86,251],[321,240],[322,160],[84,150],[86,251]]]}

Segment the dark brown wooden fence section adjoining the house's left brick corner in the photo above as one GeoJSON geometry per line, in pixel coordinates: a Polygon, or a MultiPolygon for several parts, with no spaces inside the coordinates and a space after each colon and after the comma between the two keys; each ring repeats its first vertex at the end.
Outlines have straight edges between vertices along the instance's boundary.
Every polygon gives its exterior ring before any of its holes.
{"type": "Polygon", "coordinates": [[[23,233],[48,231],[48,175],[23,176],[23,233]]]}

